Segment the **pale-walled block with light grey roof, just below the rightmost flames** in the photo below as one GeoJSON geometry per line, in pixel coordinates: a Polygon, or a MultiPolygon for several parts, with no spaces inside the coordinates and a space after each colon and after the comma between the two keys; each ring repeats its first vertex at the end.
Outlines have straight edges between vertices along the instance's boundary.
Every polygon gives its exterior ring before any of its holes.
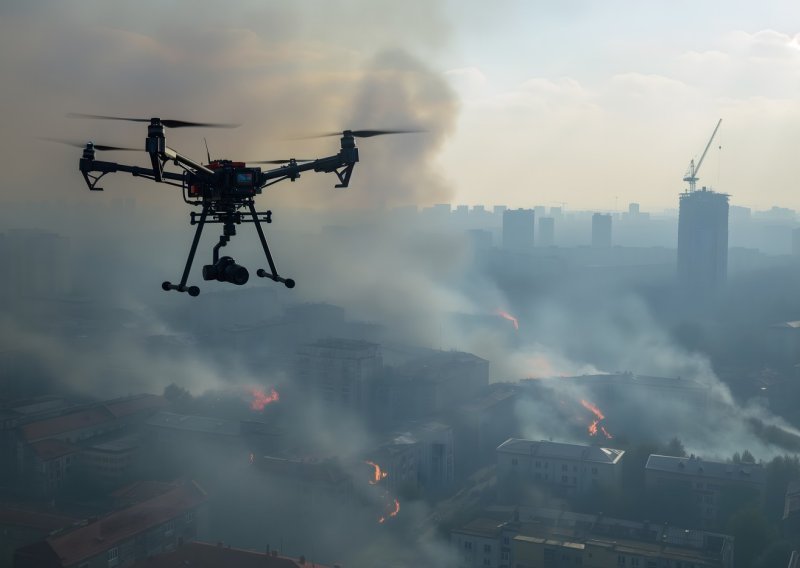
{"type": "Polygon", "coordinates": [[[501,482],[516,477],[568,492],[620,487],[624,454],[597,446],[511,438],[497,448],[497,474],[501,482]]]}

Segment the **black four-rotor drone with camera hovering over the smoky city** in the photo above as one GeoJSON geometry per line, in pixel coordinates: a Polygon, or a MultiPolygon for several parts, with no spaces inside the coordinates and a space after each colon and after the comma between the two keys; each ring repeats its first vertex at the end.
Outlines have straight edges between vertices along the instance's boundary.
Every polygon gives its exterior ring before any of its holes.
{"type": "Polygon", "coordinates": [[[328,136],[341,136],[341,148],[338,153],[325,158],[313,160],[289,158],[285,160],[261,160],[255,162],[237,162],[232,160],[212,160],[206,145],[206,155],[208,164],[203,165],[178,153],[169,146],[165,136],[168,128],[186,127],[206,127],[206,128],[236,128],[236,124],[216,124],[203,122],[187,122],[183,120],[171,120],[161,118],[130,118],[120,116],[101,116],[94,114],[72,113],[71,118],[89,118],[104,120],[122,120],[128,122],[143,122],[147,125],[147,139],[144,150],[150,155],[150,168],[118,164],[116,162],[105,162],[95,159],[96,152],[99,151],[126,151],[137,150],[137,148],[125,148],[120,146],[108,146],[87,142],[84,146],[64,140],[54,140],[64,142],[73,146],[83,147],[83,155],[79,162],[79,169],[86,185],[91,191],[103,191],[98,182],[109,173],[125,172],[134,177],[141,177],[157,183],[164,183],[180,187],[183,200],[188,205],[200,207],[199,213],[191,212],[190,225],[197,226],[189,249],[189,256],[183,269],[181,280],[178,284],[166,281],[161,284],[164,291],[175,290],[186,292],[190,296],[200,294],[197,286],[187,286],[189,272],[192,268],[197,245],[200,236],[207,223],[218,223],[222,225],[222,235],[219,242],[214,246],[211,264],[203,266],[203,279],[206,281],[216,280],[228,282],[238,286],[247,283],[250,274],[244,266],[237,264],[230,256],[220,256],[220,249],[228,244],[231,237],[236,235],[236,225],[241,223],[253,223],[264,249],[269,271],[259,268],[256,274],[260,278],[269,278],[275,282],[283,283],[287,288],[294,288],[295,282],[291,278],[284,278],[278,274],[275,268],[275,261],[272,258],[269,245],[267,244],[262,222],[272,223],[272,211],[257,211],[255,198],[261,194],[265,187],[276,184],[283,180],[295,181],[302,172],[314,171],[323,173],[335,173],[339,183],[337,188],[346,188],[350,183],[350,176],[353,168],[358,162],[358,148],[355,144],[356,138],[369,138],[384,134],[401,134],[409,132],[420,132],[420,130],[345,130],[343,132],[332,132],[313,136],[321,138],[328,136]],[[177,166],[181,171],[167,171],[168,164],[177,166]],[[248,164],[280,164],[275,169],[263,170],[260,167],[253,167],[248,164]]]}

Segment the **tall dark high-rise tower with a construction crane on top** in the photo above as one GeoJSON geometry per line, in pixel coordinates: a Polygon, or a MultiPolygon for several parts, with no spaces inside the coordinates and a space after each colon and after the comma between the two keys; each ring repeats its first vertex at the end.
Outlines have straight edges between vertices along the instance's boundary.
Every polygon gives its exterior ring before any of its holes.
{"type": "Polygon", "coordinates": [[[678,280],[692,292],[713,291],[728,273],[728,195],[705,187],[680,196],[678,280]]]}

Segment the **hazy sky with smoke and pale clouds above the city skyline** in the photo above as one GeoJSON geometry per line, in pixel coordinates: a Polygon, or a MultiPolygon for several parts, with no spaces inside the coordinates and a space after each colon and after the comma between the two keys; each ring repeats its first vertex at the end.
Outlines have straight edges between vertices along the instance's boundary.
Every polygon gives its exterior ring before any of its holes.
{"type": "MultiPolygon", "coordinates": [[[[237,122],[171,131],[195,159],[322,157],[365,139],[348,192],[306,174],[270,190],[325,209],[434,203],[677,207],[699,185],[800,209],[800,10],[790,1],[208,1],[0,3],[0,199],[76,200],[80,150],[144,128],[70,112],[237,122]]],[[[109,154],[109,160],[146,156],[109,154]]],[[[122,176],[118,195],[178,210],[122,176]]],[[[174,193],[174,192],[172,192],[174,193]]]]}

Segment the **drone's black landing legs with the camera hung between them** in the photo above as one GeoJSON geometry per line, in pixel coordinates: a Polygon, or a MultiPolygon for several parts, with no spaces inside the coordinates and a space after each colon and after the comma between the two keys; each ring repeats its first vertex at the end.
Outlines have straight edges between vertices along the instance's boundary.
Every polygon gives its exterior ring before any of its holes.
{"type": "Polygon", "coordinates": [[[247,203],[247,207],[250,210],[249,218],[243,216],[238,211],[216,211],[214,210],[214,206],[211,204],[203,205],[203,212],[200,214],[199,221],[195,220],[195,213],[192,213],[190,223],[192,225],[196,224],[197,230],[195,231],[194,239],[192,239],[192,246],[189,249],[189,257],[186,259],[186,266],[184,267],[180,284],[173,284],[169,281],[166,281],[161,284],[162,290],[165,292],[170,290],[175,290],[177,292],[188,292],[190,296],[197,296],[200,294],[200,288],[197,286],[187,286],[186,282],[189,279],[189,272],[192,268],[192,262],[194,261],[195,253],[197,252],[197,245],[200,242],[200,235],[202,234],[203,227],[206,223],[222,223],[223,234],[220,235],[219,243],[217,243],[217,245],[214,247],[213,264],[203,267],[203,279],[219,280],[220,282],[230,282],[237,285],[242,285],[247,282],[249,277],[247,269],[236,264],[235,261],[229,256],[223,256],[220,258],[219,249],[227,245],[230,238],[236,234],[236,224],[253,223],[256,226],[258,238],[261,241],[261,247],[264,249],[264,255],[267,258],[267,263],[269,264],[270,268],[270,272],[267,272],[263,268],[259,268],[256,271],[256,275],[260,278],[269,278],[274,282],[281,282],[287,288],[294,288],[294,280],[291,278],[283,278],[282,276],[278,275],[278,271],[275,268],[275,261],[272,259],[272,253],[270,253],[269,245],[267,244],[267,239],[264,235],[264,230],[261,227],[262,220],[266,221],[267,223],[272,222],[272,211],[259,213],[256,211],[255,205],[253,205],[252,202],[247,203]],[[209,219],[209,215],[211,216],[211,219],[209,219]]]}

